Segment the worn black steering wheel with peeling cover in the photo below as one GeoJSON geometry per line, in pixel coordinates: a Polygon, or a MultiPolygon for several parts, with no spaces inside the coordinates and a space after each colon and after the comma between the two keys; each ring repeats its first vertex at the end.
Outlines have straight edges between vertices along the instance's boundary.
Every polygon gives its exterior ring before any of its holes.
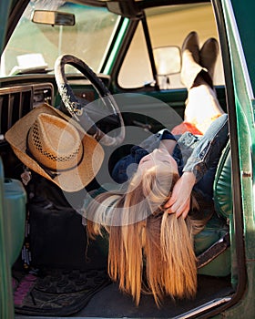
{"type": "MultiPolygon", "coordinates": [[[[77,57],[71,55],[63,55],[57,57],[55,63],[55,77],[56,85],[62,101],[70,113],[70,115],[80,123],[80,125],[92,135],[95,139],[106,146],[120,145],[125,138],[125,126],[124,121],[117,107],[115,98],[111,95],[105,84],[100,78],[87,66],[85,62],[77,57]],[[95,121],[88,115],[86,106],[76,98],[72,88],[69,86],[66,80],[65,66],[69,64],[76,67],[87,79],[91,82],[93,87],[97,90],[100,97],[100,102],[103,103],[107,110],[110,112],[110,117],[117,118],[119,133],[115,137],[111,137],[104,133],[97,127],[95,121]]],[[[96,112],[96,110],[95,110],[96,112]]],[[[106,117],[108,114],[106,115],[106,117]]]]}

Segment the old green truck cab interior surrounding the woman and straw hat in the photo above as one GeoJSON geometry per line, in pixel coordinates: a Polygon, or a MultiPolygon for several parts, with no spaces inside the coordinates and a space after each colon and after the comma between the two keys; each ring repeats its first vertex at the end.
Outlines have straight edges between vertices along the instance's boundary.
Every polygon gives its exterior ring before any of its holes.
{"type": "Polygon", "coordinates": [[[9,10],[0,67],[2,318],[193,318],[235,304],[245,272],[241,217],[233,214],[232,171],[238,185],[239,169],[230,149],[234,152],[238,143],[219,1],[19,0],[4,1],[0,8],[1,15],[9,10]],[[143,293],[137,306],[107,276],[107,238],[88,240],[78,211],[87,191],[108,182],[114,164],[133,145],[182,122],[187,89],[180,81],[180,50],[192,30],[201,44],[210,36],[219,40],[214,84],[230,116],[231,143],[214,181],[215,213],[195,237],[196,297],[166,296],[158,307],[143,293]],[[98,98],[110,100],[109,111],[98,98]],[[22,182],[26,168],[5,133],[44,103],[69,115],[85,108],[88,133],[95,134],[96,123],[108,136],[105,160],[86,190],[62,192],[33,172],[27,185],[22,182]]]}

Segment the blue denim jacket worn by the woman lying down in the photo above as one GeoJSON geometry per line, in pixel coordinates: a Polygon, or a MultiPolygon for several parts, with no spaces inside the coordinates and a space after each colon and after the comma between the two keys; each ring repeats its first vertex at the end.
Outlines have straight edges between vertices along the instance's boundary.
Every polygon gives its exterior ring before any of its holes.
{"type": "Polygon", "coordinates": [[[173,157],[178,163],[180,175],[184,171],[192,171],[196,181],[201,180],[209,169],[216,171],[222,149],[229,139],[228,116],[224,114],[217,118],[203,136],[195,136],[186,132],[173,136],[168,129],[162,129],[139,146],[134,146],[128,156],[117,162],[112,177],[118,183],[128,180],[130,174],[136,171],[139,161],[153,149],[158,149],[162,139],[176,139],[178,141],[173,157]],[[129,166],[133,164],[132,166],[129,166]],[[128,171],[128,167],[132,168],[128,171]]]}

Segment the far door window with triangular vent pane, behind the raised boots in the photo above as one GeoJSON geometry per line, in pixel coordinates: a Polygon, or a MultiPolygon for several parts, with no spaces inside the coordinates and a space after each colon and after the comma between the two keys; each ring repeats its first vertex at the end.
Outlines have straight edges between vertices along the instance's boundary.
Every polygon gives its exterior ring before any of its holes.
{"type": "MultiPolygon", "coordinates": [[[[146,10],[149,35],[153,48],[172,47],[177,56],[182,46],[184,38],[191,31],[197,31],[199,34],[200,46],[209,38],[219,39],[216,22],[210,4],[196,5],[171,5],[146,10]],[[179,50],[177,49],[179,47],[179,50]]],[[[156,57],[156,50],[155,50],[156,57]]],[[[156,57],[157,58],[157,57],[156,57]]],[[[166,65],[169,60],[178,61],[178,58],[171,57],[162,61],[166,65]]],[[[179,62],[179,69],[180,69],[179,62]]],[[[158,67],[159,68],[159,67],[158,67]]],[[[167,77],[159,76],[159,85],[164,88],[184,87],[180,81],[179,69],[177,67],[168,67],[172,70],[167,77]]],[[[142,27],[139,26],[137,33],[128,49],[128,55],[120,69],[118,83],[121,87],[142,87],[145,83],[153,80],[150,70],[148,51],[145,43],[145,37],[142,27]]],[[[219,54],[214,84],[223,85],[223,67],[221,56],[219,54]]]]}

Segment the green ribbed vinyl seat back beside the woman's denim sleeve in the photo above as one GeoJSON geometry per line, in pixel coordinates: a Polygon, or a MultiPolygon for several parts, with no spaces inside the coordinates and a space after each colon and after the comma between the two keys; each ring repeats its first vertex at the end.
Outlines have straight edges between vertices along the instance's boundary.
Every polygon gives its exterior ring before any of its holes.
{"type": "Polygon", "coordinates": [[[214,205],[219,216],[230,217],[232,213],[232,191],[231,191],[231,157],[230,142],[223,149],[219,159],[218,170],[214,179],[214,205]]]}

